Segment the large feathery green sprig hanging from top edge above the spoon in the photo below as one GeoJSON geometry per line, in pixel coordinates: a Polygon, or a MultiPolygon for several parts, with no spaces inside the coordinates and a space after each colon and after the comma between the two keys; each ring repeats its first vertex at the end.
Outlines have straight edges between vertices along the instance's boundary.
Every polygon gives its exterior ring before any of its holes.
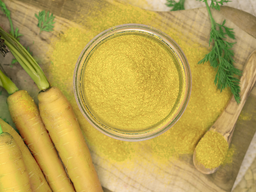
{"type": "Polygon", "coordinates": [[[199,1],[205,2],[209,13],[212,24],[209,46],[213,43],[213,48],[209,54],[205,55],[205,57],[198,62],[198,64],[204,64],[209,61],[211,66],[217,70],[214,80],[217,88],[221,92],[223,89],[229,87],[236,102],[240,103],[240,80],[236,78],[235,75],[240,76],[242,72],[233,65],[234,52],[232,47],[235,43],[230,43],[224,40],[226,39],[226,35],[231,39],[235,39],[235,35],[233,29],[224,26],[226,22],[225,20],[222,24],[216,23],[210,10],[210,7],[219,10],[220,6],[224,2],[229,2],[229,0],[212,0],[210,6],[208,5],[207,0],[199,1]]]}

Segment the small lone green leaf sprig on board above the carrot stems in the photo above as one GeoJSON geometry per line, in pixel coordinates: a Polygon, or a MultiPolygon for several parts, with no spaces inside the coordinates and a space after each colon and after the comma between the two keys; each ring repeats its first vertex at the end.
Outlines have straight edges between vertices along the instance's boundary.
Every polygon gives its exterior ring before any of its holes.
{"type": "Polygon", "coordinates": [[[46,13],[46,18],[45,18],[45,11],[39,11],[38,15],[35,14],[35,16],[38,19],[38,24],[37,26],[40,28],[40,32],[45,31],[45,32],[51,32],[53,31],[53,24],[55,22],[53,22],[55,16],[53,16],[53,14],[50,15],[50,12],[48,11],[46,13]]]}

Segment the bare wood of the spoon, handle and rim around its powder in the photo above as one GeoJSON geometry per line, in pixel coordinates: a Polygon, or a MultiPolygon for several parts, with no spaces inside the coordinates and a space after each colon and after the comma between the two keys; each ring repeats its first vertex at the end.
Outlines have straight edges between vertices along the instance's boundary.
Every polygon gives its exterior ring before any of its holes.
{"type": "MultiPolygon", "coordinates": [[[[240,98],[241,102],[240,104],[237,104],[235,101],[235,97],[232,96],[226,105],[223,112],[219,115],[216,122],[213,124],[213,126],[208,130],[213,130],[219,132],[225,140],[228,143],[228,146],[230,145],[231,138],[234,132],[234,128],[236,125],[236,121],[242,111],[242,108],[248,98],[248,96],[251,93],[251,90],[254,87],[254,84],[256,82],[256,50],[251,53],[251,55],[248,57],[246,64],[244,66],[244,71],[242,74],[242,77],[240,79],[240,98]]],[[[200,141],[199,141],[200,142],[200,141]]],[[[196,150],[193,154],[193,163],[195,168],[204,174],[212,174],[217,171],[219,167],[209,169],[205,168],[202,163],[196,160],[196,150]]]]}

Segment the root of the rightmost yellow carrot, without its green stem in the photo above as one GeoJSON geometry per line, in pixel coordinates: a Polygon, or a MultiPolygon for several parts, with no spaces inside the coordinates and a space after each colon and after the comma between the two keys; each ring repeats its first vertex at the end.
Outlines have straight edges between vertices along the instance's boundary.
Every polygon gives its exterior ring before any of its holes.
{"type": "Polygon", "coordinates": [[[103,192],[68,99],[57,87],[38,94],[39,112],[76,192],[103,192]]]}

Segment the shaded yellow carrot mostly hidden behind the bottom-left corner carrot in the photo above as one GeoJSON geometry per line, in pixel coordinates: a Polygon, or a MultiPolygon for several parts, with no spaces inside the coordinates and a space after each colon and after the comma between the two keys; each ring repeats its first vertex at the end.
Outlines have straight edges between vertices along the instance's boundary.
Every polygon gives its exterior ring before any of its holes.
{"type": "Polygon", "coordinates": [[[9,124],[5,123],[0,118],[0,126],[4,132],[8,132],[13,136],[15,141],[17,142],[22,157],[26,166],[26,170],[29,174],[31,189],[33,192],[52,192],[48,183],[46,182],[42,171],[40,170],[37,161],[31,155],[29,149],[25,145],[24,141],[22,140],[21,136],[12,128],[9,124]]]}

